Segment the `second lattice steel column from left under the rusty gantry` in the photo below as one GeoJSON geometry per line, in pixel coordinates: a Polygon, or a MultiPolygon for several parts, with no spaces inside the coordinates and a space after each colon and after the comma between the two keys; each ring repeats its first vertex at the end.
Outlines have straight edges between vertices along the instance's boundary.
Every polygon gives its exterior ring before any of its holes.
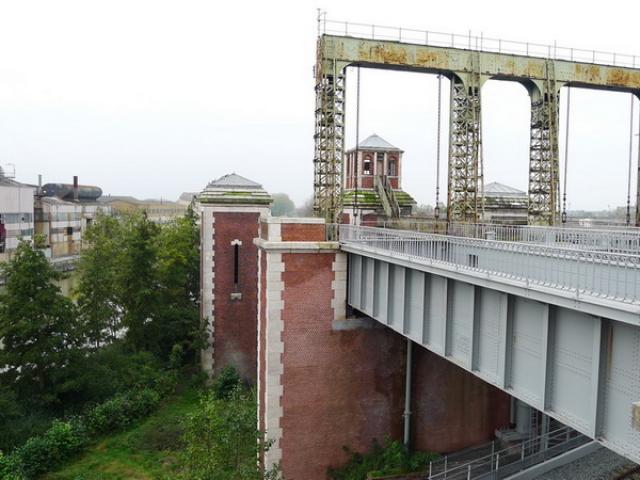
{"type": "Polygon", "coordinates": [[[478,221],[480,82],[451,79],[449,128],[449,222],[478,221]]]}

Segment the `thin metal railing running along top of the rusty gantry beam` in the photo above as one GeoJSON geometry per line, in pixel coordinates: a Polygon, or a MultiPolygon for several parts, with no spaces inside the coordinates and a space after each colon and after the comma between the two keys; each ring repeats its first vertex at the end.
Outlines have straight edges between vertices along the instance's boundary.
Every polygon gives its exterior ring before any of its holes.
{"type": "Polygon", "coordinates": [[[526,57],[568,60],[572,62],[612,65],[617,67],[640,67],[640,56],[587,50],[558,45],[503,40],[485,37],[483,33],[468,34],[434,32],[388,25],[344,22],[327,19],[325,14],[318,17],[318,33],[343,35],[371,40],[393,40],[398,42],[430,45],[433,47],[451,47],[489,53],[506,53],[526,57]]]}

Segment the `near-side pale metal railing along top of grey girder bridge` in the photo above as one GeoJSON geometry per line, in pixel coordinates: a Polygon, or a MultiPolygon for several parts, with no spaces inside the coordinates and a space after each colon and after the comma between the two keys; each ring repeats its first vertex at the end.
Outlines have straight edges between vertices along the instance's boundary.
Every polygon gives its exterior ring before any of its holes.
{"type": "Polygon", "coordinates": [[[342,245],[623,303],[640,303],[640,256],[340,225],[342,245]]]}

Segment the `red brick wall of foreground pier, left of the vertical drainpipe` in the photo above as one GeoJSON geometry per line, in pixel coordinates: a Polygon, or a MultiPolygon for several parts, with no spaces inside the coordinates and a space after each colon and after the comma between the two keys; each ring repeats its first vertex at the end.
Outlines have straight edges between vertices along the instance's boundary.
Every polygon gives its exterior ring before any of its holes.
{"type": "Polygon", "coordinates": [[[404,340],[382,329],[333,331],[334,254],[283,254],[282,469],[324,480],[343,446],[401,435],[404,340]]]}

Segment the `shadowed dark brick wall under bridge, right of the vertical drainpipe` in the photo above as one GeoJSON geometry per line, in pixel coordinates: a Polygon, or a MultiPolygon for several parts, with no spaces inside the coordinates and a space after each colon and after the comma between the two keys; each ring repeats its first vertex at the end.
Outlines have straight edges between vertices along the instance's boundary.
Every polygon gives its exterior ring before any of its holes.
{"type": "Polygon", "coordinates": [[[452,452],[489,441],[509,424],[509,396],[414,344],[412,445],[452,452]]]}

